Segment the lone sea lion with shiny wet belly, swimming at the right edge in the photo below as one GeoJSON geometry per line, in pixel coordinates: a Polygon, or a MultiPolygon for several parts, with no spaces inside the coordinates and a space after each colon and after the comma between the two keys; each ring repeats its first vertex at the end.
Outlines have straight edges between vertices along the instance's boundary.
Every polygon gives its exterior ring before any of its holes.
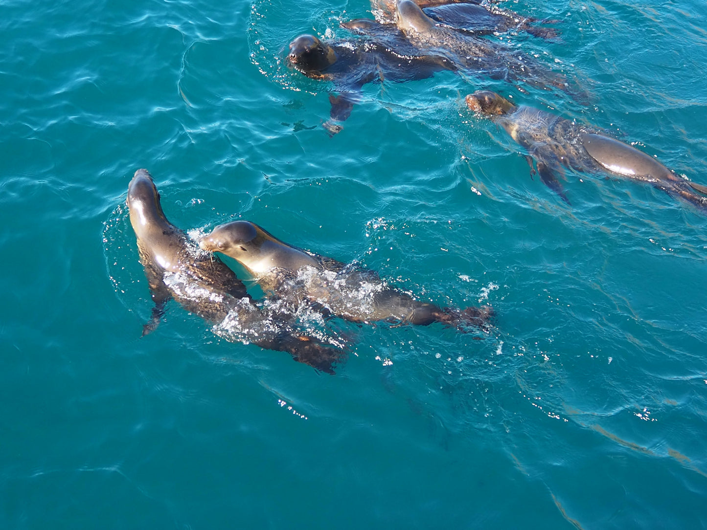
{"type": "Polygon", "coordinates": [[[551,112],[515,105],[489,90],[466,98],[469,109],[490,117],[527,150],[527,160],[550,189],[569,202],[557,178],[569,167],[579,172],[604,172],[649,182],[670,195],[707,208],[707,187],[678,177],[655,158],[614,139],[601,129],[578,124],[551,112]],[[695,193],[699,192],[699,193],[695,193]]]}

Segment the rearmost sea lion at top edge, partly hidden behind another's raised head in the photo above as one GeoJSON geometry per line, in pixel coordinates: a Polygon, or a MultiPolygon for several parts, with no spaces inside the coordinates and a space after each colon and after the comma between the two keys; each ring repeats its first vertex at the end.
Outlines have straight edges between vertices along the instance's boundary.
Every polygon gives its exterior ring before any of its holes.
{"type": "MultiPolygon", "coordinates": [[[[509,30],[525,31],[536,37],[557,37],[555,28],[534,25],[556,23],[556,20],[537,20],[502,9],[495,3],[476,0],[414,0],[424,13],[436,23],[450,29],[464,30],[476,35],[509,30]]],[[[396,0],[370,0],[371,13],[381,23],[395,23],[396,0]]]]}

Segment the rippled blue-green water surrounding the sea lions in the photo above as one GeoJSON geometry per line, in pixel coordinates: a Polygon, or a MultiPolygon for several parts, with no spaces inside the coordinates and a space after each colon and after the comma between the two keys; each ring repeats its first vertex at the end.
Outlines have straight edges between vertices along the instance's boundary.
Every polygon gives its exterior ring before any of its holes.
{"type": "MultiPolygon", "coordinates": [[[[516,100],[707,184],[702,1],[508,5],[594,95],[516,100]]],[[[465,109],[497,81],[366,86],[330,139],[281,49],[368,8],[0,3],[1,528],[707,526],[707,216],[573,174],[564,204],[465,109]],[[496,329],[337,322],[334,376],[176,305],[141,338],[138,167],[182,228],[240,215],[496,329]]]]}

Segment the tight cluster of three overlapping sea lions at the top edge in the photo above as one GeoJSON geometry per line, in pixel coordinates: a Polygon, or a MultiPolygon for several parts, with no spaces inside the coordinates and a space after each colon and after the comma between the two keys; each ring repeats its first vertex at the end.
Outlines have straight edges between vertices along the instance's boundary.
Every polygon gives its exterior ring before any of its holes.
{"type": "Polygon", "coordinates": [[[373,0],[373,4],[379,6],[373,8],[378,20],[356,18],[340,23],[341,28],[362,38],[324,42],[314,35],[300,35],[289,45],[286,60],[290,66],[310,78],[332,82],[333,91],[339,94],[329,97],[331,120],[325,127],[332,134],[341,131],[340,122],[349,117],[366,83],[412,81],[441,70],[561,90],[580,101],[588,98],[565,76],[534,57],[484,38],[491,31],[510,29],[545,38],[556,36],[551,28],[531,26],[532,19],[510,11],[489,11],[489,4],[454,0],[397,0],[397,4],[376,4],[373,0]],[[421,6],[426,6],[426,11],[421,6]],[[392,18],[387,14],[391,8],[392,18]],[[438,22],[440,18],[445,23],[438,22]],[[460,26],[452,27],[452,22],[460,26]]]}

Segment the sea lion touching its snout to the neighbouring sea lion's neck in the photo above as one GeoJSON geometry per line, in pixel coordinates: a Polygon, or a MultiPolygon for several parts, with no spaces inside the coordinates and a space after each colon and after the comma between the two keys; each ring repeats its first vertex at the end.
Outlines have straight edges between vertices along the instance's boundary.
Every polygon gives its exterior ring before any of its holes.
{"type": "Polygon", "coordinates": [[[441,322],[464,330],[484,327],[490,306],[455,310],[419,302],[390,288],[375,271],[309,254],[277,239],[250,221],[218,225],[201,237],[199,247],[232,257],[252,274],[264,291],[314,302],[330,314],[352,322],[387,322],[426,326],[441,322]]]}

